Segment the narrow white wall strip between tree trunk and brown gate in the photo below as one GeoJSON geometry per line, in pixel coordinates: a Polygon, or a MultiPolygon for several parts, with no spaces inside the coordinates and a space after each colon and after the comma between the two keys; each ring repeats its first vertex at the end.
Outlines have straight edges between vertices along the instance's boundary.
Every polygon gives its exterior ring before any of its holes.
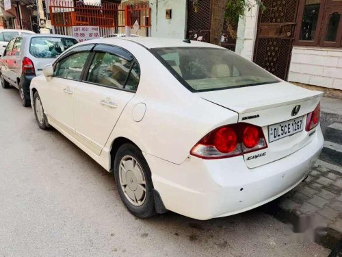
{"type": "Polygon", "coordinates": [[[246,10],[245,16],[239,19],[237,27],[237,45],[235,52],[248,60],[253,59],[255,39],[257,38],[259,5],[251,0],[253,5],[250,11],[246,10]]]}

